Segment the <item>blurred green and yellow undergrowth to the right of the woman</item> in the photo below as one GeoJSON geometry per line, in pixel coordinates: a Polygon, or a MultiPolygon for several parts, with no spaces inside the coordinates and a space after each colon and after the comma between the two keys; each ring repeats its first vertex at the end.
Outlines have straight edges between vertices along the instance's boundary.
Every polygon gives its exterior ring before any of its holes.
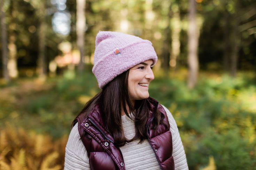
{"type": "Polygon", "coordinates": [[[204,167],[211,155],[217,169],[255,169],[256,88],[250,76],[205,75],[194,90],[175,78],[150,85],[151,96],[176,119],[189,169],[204,167]]]}

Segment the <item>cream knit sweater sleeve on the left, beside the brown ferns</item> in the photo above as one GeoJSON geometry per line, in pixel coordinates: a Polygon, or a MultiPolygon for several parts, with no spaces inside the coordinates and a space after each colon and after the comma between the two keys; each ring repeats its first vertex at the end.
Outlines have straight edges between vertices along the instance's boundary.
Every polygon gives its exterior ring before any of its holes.
{"type": "Polygon", "coordinates": [[[72,128],[69,135],[64,170],[90,170],[87,152],[83,142],[80,140],[78,124],[72,128]]]}

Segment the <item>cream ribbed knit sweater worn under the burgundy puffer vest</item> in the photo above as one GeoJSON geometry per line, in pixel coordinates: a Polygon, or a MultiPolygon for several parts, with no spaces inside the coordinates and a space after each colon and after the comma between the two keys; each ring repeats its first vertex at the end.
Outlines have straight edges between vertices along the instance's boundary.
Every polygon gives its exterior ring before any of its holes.
{"type": "MultiPolygon", "coordinates": [[[[164,107],[164,106],[163,106],[164,107]]],[[[176,170],[187,170],[187,160],[183,144],[180,139],[177,124],[168,109],[164,107],[170,123],[173,145],[173,159],[176,170]]],[[[122,116],[124,134],[126,138],[131,139],[135,135],[134,123],[126,115],[122,116]]],[[[90,170],[89,159],[86,149],[81,140],[79,140],[78,125],[76,124],[69,135],[65,154],[64,170],[90,170]]],[[[122,151],[125,168],[127,170],[146,169],[156,170],[160,166],[156,160],[155,154],[148,143],[144,141],[138,144],[139,140],[133,141],[120,147],[122,151]]]]}

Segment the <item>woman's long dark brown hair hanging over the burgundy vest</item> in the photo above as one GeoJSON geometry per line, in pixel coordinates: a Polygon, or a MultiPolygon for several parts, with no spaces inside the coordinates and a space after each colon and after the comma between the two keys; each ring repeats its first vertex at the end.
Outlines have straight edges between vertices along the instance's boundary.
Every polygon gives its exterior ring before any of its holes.
{"type": "MultiPolygon", "coordinates": [[[[149,117],[149,103],[146,99],[143,99],[135,101],[134,106],[132,105],[128,91],[128,76],[129,70],[114,78],[103,87],[100,93],[96,94],[90,101],[88,101],[83,110],[79,113],[84,114],[84,117],[87,117],[96,104],[100,105],[102,116],[104,118],[103,120],[105,120],[109,133],[113,136],[114,144],[116,146],[123,146],[126,142],[129,143],[136,139],[140,139],[139,143],[142,143],[147,139],[146,124],[149,117]],[[129,110],[126,109],[126,104],[129,110]],[[135,124],[135,136],[130,140],[124,135],[121,119],[122,108],[126,116],[132,119],[135,124]],[[129,113],[132,114],[132,117],[129,113]]],[[[162,121],[163,119],[164,114],[157,110],[155,119],[153,120],[153,128],[157,128],[158,125],[164,124],[162,121]]],[[[76,121],[74,121],[72,125],[74,126],[75,123],[76,121]]]]}

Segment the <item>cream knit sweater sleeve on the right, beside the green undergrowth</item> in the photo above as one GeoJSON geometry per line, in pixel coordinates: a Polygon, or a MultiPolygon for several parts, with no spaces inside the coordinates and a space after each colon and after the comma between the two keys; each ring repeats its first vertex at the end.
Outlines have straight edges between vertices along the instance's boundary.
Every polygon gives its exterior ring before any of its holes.
{"type": "Polygon", "coordinates": [[[184,151],[183,144],[181,142],[176,121],[174,120],[171,112],[166,107],[163,106],[163,108],[166,111],[170,124],[170,131],[172,134],[172,156],[174,159],[175,170],[188,170],[186,154],[184,151]]]}

